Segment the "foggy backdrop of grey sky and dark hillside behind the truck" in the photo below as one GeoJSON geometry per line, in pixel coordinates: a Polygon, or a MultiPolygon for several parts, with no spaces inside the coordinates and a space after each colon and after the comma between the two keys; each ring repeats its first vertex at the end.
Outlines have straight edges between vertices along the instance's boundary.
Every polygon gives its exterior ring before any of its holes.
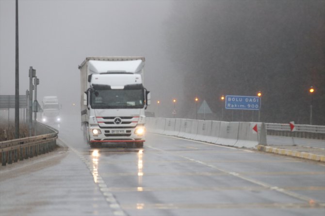
{"type": "MultiPolygon", "coordinates": [[[[207,118],[220,120],[221,95],[260,90],[261,121],[307,124],[315,86],[314,122],[324,125],[324,1],[274,2],[19,1],[19,92],[29,88],[33,66],[38,101],[57,95],[64,114],[80,115],[84,58],[144,56],[156,116],[173,117],[175,98],[175,116],[195,118],[197,96],[214,113],[207,118]]],[[[14,94],[15,1],[0,0],[0,95],[14,94]]],[[[257,112],[230,115],[224,120],[257,121],[257,112]]]]}

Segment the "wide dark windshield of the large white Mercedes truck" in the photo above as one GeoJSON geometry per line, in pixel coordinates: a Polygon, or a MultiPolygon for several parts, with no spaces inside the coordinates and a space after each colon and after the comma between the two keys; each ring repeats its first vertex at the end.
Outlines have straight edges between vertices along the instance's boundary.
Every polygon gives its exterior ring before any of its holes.
{"type": "Polygon", "coordinates": [[[135,109],[143,108],[144,104],[143,89],[101,89],[93,91],[90,97],[90,105],[93,109],[135,109]]]}

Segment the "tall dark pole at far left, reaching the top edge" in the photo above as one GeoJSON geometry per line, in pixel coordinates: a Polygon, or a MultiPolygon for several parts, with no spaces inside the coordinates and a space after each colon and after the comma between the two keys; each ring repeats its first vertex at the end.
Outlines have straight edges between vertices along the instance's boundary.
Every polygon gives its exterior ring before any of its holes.
{"type": "Polygon", "coordinates": [[[18,0],[16,0],[16,77],[15,77],[15,138],[19,139],[19,47],[18,47],[18,0]]]}

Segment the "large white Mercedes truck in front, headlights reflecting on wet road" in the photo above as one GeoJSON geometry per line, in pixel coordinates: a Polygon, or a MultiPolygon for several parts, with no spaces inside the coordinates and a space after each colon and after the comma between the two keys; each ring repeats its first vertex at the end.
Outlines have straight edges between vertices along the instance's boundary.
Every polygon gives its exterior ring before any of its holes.
{"type": "Polygon", "coordinates": [[[143,86],[144,65],[144,57],[88,57],[79,66],[81,126],[91,147],[143,147],[145,109],[150,105],[150,92],[143,86]]]}

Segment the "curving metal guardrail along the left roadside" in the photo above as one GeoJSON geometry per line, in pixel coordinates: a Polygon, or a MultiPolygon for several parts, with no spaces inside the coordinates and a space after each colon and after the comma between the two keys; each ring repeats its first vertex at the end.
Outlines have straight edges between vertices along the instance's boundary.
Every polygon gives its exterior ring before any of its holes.
{"type": "Polygon", "coordinates": [[[0,142],[2,166],[48,153],[55,148],[59,131],[41,123],[36,126],[41,135],[0,142]]]}

